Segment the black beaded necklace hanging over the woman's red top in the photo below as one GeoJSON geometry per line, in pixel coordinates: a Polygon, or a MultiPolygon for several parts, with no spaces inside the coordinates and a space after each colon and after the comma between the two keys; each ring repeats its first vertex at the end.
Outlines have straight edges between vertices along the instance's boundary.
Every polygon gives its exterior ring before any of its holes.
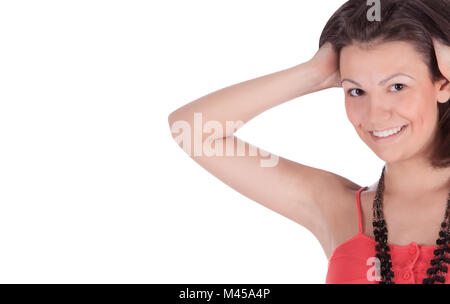
{"type": "MultiPolygon", "coordinates": [[[[376,257],[380,260],[381,280],[379,284],[395,284],[392,281],[394,272],[391,270],[392,262],[390,249],[387,242],[388,230],[383,215],[383,192],[384,192],[384,171],[386,165],[381,172],[380,181],[378,182],[377,192],[373,201],[373,234],[375,236],[376,257]]],[[[423,284],[445,283],[445,274],[448,271],[447,264],[450,264],[450,192],[448,195],[447,209],[445,211],[444,221],[441,223],[439,238],[436,240],[436,249],[434,250],[434,258],[431,259],[431,267],[427,270],[427,278],[423,279],[423,284]]]]}

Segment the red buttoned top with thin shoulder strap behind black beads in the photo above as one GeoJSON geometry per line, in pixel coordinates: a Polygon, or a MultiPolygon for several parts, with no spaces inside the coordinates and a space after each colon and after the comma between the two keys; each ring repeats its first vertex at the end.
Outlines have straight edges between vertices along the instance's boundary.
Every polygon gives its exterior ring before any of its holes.
{"type": "MultiPolygon", "coordinates": [[[[333,250],[328,260],[327,284],[378,283],[378,273],[375,271],[375,240],[362,232],[360,195],[361,191],[366,189],[368,187],[362,187],[356,194],[359,232],[333,250]]],[[[431,266],[433,251],[438,246],[421,246],[411,242],[406,246],[389,244],[389,248],[394,272],[392,280],[396,284],[422,284],[422,280],[427,277],[427,269],[431,266]]],[[[450,268],[450,265],[448,266],[450,268]]],[[[445,284],[450,284],[449,272],[446,273],[445,284]]]]}

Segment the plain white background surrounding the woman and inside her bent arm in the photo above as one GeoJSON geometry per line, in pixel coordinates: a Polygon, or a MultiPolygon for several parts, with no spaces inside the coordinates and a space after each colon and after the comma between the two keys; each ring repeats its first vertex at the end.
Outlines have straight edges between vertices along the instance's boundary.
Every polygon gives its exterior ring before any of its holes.
{"type": "MultiPolygon", "coordinates": [[[[309,60],[344,2],[2,1],[0,282],[324,283],[314,236],[190,159],[167,118],[309,60]]],[[[381,173],[341,88],[235,134],[360,185],[381,173]]]]}

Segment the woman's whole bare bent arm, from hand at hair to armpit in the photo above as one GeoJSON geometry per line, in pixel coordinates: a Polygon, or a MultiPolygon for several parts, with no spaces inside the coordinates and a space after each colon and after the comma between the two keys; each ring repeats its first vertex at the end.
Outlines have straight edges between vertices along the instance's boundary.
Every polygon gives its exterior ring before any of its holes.
{"type": "Polygon", "coordinates": [[[169,115],[173,138],[198,164],[246,197],[307,228],[327,256],[332,242],[331,205],[344,191],[359,186],[331,172],[266,153],[233,133],[283,102],[339,87],[336,59],[326,44],[305,63],[210,93],[169,115]],[[194,121],[195,113],[201,116],[200,125],[194,121]],[[242,124],[227,129],[227,122],[236,121],[242,124]]]}

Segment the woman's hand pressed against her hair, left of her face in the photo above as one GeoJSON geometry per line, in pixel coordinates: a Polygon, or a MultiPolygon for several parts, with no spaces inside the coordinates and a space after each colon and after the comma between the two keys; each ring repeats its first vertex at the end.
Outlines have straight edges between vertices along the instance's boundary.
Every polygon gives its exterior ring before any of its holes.
{"type": "Polygon", "coordinates": [[[338,55],[330,42],[325,43],[317,51],[309,63],[317,71],[319,87],[324,90],[328,88],[341,88],[341,74],[338,69],[338,55]]]}

